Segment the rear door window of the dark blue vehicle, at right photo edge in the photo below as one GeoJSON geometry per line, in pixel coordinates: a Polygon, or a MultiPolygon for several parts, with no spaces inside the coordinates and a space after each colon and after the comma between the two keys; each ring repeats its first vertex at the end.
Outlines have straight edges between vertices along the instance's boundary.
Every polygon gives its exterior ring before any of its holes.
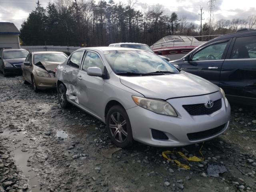
{"type": "Polygon", "coordinates": [[[249,58],[256,58],[256,36],[236,38],[230,59],[249,58]]]}

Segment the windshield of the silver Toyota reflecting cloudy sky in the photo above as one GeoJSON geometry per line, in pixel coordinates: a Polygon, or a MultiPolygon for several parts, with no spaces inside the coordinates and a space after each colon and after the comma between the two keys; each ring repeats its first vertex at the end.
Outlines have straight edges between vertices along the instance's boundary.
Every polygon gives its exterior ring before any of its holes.
{"type": "Polygon", "coordinates": [[[117,73],[148,74],[154,72],[179,73],[165,59],[158,55],[140,50],[104,51],[112,70],[117,73]]]}

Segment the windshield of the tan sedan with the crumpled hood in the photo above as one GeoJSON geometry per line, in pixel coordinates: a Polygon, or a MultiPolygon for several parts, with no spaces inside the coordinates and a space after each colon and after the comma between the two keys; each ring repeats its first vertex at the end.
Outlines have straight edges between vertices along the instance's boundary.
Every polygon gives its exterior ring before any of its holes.
{"type": "Polygon", "coordinates": [[[40,61],[47,62],[60,62],[63,63],[66,60],[67,56],[63,53],[42,53],[35,54],[34,64],[37,64],[40,61]]]}

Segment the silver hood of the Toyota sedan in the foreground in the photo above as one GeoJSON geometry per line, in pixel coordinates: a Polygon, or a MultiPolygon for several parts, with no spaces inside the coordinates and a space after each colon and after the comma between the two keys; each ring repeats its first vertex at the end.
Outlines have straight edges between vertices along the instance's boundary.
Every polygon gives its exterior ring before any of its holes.
{"type": "Polygon", "coordinates": [[[125,86],[148,98],[169,98],[209,94],[219,90],[218,86],[190,73],[154,76],[120,76],[125,86]]]}

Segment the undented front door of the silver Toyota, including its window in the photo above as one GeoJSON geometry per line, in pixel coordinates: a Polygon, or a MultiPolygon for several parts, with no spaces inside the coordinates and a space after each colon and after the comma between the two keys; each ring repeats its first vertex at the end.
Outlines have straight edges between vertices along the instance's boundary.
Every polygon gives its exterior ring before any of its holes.
{"type": "Polygon", "coordinates": [[[104,71],[102,59],[96,52],[88,51],[83,60],[82,70],[78,73],[79,105],[95,115],[102,117],[102,94],[104,80],[102,77],[89,76],[88,67],[98,67],[104,71]]]}

